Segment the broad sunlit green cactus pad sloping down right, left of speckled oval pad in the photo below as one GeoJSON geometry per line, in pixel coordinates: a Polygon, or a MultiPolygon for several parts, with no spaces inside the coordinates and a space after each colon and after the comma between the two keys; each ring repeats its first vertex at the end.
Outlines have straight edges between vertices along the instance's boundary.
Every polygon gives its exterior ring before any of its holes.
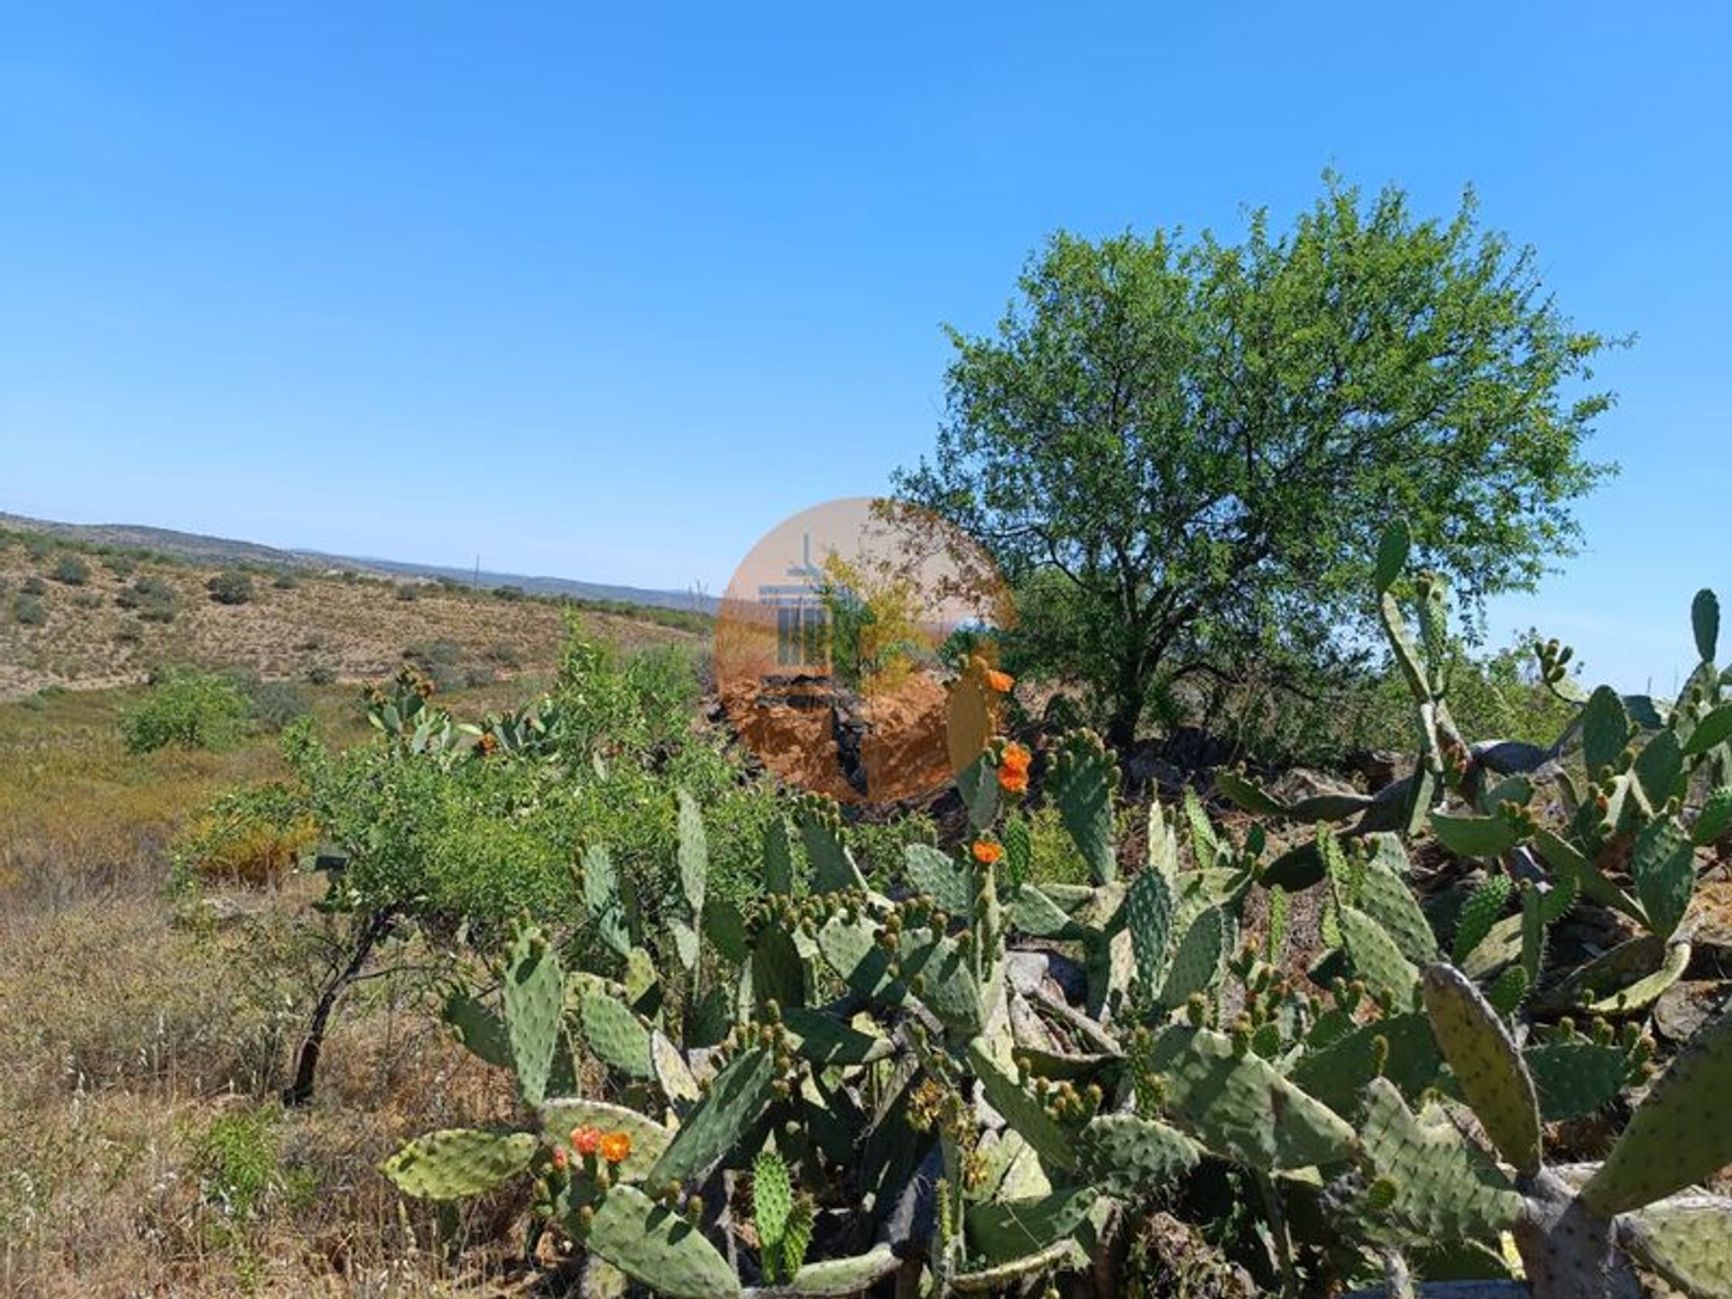
{"type": "Polygon", "coordinates": [[[1268,1060],[1237,1055],[1226,1034],[1169,1025],[1155,1037],[1150,1067],[1162,1076],[1167,1115],[1228,1159],[1270,1171],[1353,1154],[1344,1119],[1268,1060]]]}

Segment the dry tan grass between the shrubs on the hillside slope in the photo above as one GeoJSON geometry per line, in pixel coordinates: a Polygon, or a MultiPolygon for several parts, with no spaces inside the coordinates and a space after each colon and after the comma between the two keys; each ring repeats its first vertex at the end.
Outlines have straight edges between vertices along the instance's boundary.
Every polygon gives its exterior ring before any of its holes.
{"type": "MultiPolygon", "coordinates": [[[[135,684],[165,663],[241,667],[262,677],[303,679],[322,669],[338,681],[390,675],[414,643],[452,641],[475,660],[506,650],[525,670],[558,662],[565,622],[551,601],[504,601],[487,592],[424,584],[417,598],[397,598],[397,582],[303,575],[294,587],[277,587],[268,573],[253,575],[253,599],[218,604],[204,584],[216,570],[158,561],[139,563],[118,577],[88,558],[83,585],[52,578],[55,556],[31,558],[21,546],[0,546],[0,700],[23,698],[47,686],[94,689],[135,684]],[[47,620],[19,624],[12,596],[40,578],[47,620]],[[142,620],[116,603],[144,577],[175,591],[173,622],[142,620]]],[[[689,641],[660,624],[613,613],[585,613],[603,639],[622,646],[689,641]]]]}

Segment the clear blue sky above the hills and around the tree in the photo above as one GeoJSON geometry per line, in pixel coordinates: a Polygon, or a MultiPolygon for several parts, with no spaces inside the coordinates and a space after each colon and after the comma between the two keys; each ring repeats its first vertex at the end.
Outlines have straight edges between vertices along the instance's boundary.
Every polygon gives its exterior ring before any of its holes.
{"type": "Polygon", "coordinates": [[[0,509],[717,591],[930,443],[940,322],[1051,229],[1335,166],[1472,182],[1640,336],[1590,553],[1496,632],[1666,689],[1732,598],[1722,7],[634,9],[0,9],[0,509]]]}

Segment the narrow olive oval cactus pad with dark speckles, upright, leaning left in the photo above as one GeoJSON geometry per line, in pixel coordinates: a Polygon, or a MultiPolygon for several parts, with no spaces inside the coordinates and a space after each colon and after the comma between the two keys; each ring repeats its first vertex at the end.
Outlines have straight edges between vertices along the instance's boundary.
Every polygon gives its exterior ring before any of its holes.
{"type": "Polygon", "coordinates": [[[1503,1020],[1453,965],[1422,977],[1425,1013],[1443,1058],[1486,1136],[1524,1176],[1540,1171],[1540,1102],[1503,1020]]]}

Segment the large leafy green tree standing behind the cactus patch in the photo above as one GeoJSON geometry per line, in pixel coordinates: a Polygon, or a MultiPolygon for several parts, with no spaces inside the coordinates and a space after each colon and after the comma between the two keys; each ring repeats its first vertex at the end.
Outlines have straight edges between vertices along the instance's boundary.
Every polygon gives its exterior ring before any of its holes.
{"type": "MultiPolygon", "coordinates": [[[[1474,615],[1573,551],[1592,359],[1535,253],[1327,178],[1285,234],[1057,234],[996,333],[951,329],[937,449],[897,494],[979,537],[1025,662],[1088,684],[1110,738],[1192,674],[1299,681],[1356,644],[1405,514],[1474,615]]],[[[1335,660],[1339,662],[1339,658],[1335,660]]]]}

